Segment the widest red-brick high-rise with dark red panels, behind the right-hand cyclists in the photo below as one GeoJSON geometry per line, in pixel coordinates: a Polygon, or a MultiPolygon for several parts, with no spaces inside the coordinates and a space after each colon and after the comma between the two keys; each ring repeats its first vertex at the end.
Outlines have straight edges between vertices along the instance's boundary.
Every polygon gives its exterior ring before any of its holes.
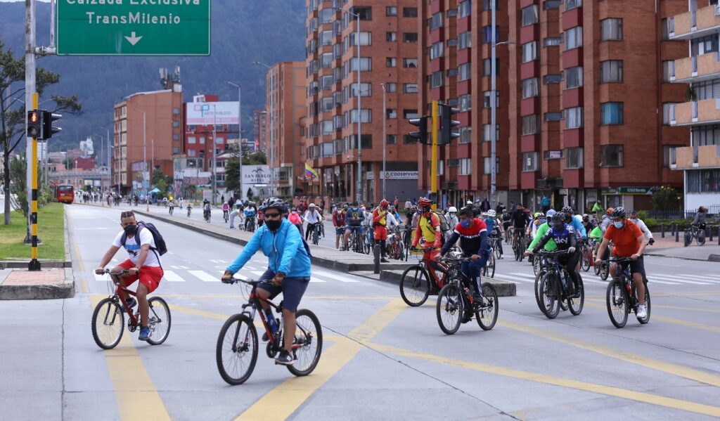
{"type": "MultiPolygon", "coordinates": [[[[667,157],[687,130],[667,116],[685,87],[663,68],[687,53],[662,38],[682,1],[497,1],[495,31],[491,0],[422,4],[420,107],[439,99],[462,110],[461,137],[438,165],[454,204],[490,196],[493,39],[499,202],[649,209],[652,187],[682,185],[667,157]]],[[[427,165],[429,148],[420,155],[427,165]]]]}

